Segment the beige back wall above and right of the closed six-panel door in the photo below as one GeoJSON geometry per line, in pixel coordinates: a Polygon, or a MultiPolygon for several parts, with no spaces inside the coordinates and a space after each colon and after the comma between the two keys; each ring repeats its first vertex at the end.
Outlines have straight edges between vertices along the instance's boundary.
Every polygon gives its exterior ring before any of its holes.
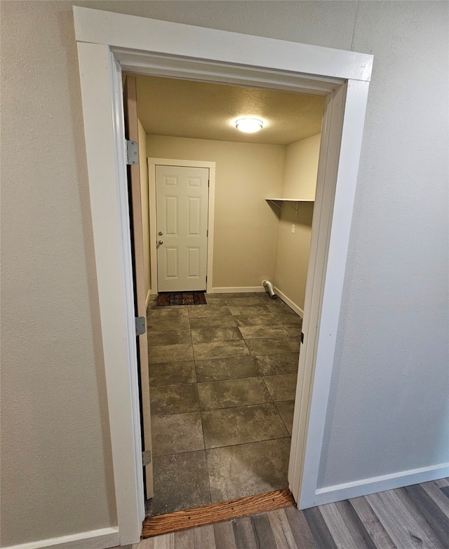
{"type": "Polygon", "coordinates": [[[147,135],[147,154],[216,162],[214,287],[274,276],[279,218],[265,198],[282,189],[285,147],[147,135]]]}

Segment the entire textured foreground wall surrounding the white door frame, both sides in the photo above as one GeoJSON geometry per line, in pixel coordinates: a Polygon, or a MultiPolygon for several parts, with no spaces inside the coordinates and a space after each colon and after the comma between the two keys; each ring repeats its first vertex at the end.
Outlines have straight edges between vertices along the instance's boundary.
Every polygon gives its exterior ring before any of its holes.
{"type": "MultiPolygon", "coordinates": [[[[1,3],[3,545],[115,522],[71,4],[1,3]]],[[[74,4],[375,55],[321,485],[447,459],[448,4],[74,4]]]]}

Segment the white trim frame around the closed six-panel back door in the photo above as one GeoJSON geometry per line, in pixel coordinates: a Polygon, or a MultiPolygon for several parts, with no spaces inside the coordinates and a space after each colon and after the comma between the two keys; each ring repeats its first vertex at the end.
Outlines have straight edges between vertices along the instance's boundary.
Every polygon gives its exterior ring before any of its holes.
{"type": "Polygon", "coordinates": [[[186,168],[209,169],[208,192],[208,249],[206,263],[206,292],[212,293],[213,277],[213,226],[215,208],[215,162],[178,160],[176,158],[148,158],[148,183],[149,183],[149,261],[151,264],[151,293],[158,293],[157,281],[157,229],[156,229],[156,165],[180,166],[186,168]]]}

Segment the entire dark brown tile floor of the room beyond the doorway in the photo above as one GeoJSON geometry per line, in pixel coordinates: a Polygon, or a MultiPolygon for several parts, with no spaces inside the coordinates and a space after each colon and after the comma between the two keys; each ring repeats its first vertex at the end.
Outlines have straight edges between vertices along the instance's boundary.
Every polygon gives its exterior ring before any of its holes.
{"type": "Polygon", "coordinates": [[[147,515],[287,487],[302,319],[266,293],[147,311],[147,515]]]}

